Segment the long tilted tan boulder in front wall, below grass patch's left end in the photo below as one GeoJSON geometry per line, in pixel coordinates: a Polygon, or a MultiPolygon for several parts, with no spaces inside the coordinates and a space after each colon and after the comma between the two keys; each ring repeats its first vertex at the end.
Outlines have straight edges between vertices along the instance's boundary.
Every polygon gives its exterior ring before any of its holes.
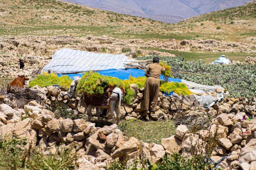
{"type": "Polygon", "coordinates": [[[125,142],[120,148],[116,149],[112,154],[112,158],[119,158],[126,154],[136,151],[140,146],[140,141],[135,137],[131,137],[129,141],[125,142]]]}

